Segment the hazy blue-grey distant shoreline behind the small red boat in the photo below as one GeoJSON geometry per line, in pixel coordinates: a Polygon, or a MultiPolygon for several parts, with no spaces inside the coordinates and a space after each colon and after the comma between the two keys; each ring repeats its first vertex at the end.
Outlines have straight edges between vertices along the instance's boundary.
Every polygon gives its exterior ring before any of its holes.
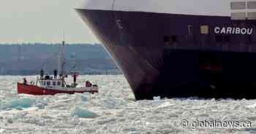
{"type": "MultiPolygon", "coordinates": [[[[100,44],[67,44],[66,71],[80,74],[121,74],[100,44]],[[75,66],[75,68],[73,68],[75,66]]],[[[59,44],[0,44],[0,75],[37,75],[43,68],[48,74],[58,69],[59,44]]]]}

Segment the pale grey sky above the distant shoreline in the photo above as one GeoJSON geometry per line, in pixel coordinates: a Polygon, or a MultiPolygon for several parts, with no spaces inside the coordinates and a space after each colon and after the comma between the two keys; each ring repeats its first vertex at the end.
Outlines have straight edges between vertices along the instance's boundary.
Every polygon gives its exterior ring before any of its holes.
{"type": "Polygon", "coordinates": [[[0,0],[0,44],[99,43],[75,12],[83,0],[0,0]]]}

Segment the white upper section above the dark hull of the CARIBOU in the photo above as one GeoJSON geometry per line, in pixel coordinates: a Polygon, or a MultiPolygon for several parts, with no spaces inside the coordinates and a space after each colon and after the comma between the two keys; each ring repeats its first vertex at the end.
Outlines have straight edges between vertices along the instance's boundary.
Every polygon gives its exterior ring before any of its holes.
{"type": "Polygon", "coordinates": [[[252,5],[256,3],[255,0],[86,0],[76,8],[210,16],[230,16],[231,12],[256,12],[256,9],[249,8],[231,9],[233,2],[252,2],[249,3],[252,5]]]}

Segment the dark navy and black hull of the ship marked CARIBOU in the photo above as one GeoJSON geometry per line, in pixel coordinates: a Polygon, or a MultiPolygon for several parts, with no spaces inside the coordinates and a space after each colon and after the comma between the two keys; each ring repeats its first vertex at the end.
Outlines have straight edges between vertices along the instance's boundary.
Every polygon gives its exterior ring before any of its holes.
{"type": "Polygon", "coordinates": [[[230,17],[77,10],[127,78],[135,98],[256,98],[256,36],[215,35],[214,26],[255,27],[230,17]],[[188,31],[188,25],[192,29],[188,31]],[[208,25],[208,35],[200,34],[208,25]],[[170,39],[166,39],[170,37],[170,39]],[[217,39],[220,38],[220,39],[217,39]]]}

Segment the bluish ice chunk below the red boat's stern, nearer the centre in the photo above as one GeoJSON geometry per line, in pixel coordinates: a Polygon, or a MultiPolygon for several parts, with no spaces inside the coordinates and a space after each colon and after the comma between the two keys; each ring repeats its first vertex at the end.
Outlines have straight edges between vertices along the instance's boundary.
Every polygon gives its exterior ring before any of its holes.
{"type": "Polygon", "coordinates": [[[91,111],[87,111],[86,109],[81,109],[79,107],[76,107],[73,111],[72,111],[72,116],[78,116],[81,118],[96,118],[98,117],[97,114],[91,112],[91,111]]]}

